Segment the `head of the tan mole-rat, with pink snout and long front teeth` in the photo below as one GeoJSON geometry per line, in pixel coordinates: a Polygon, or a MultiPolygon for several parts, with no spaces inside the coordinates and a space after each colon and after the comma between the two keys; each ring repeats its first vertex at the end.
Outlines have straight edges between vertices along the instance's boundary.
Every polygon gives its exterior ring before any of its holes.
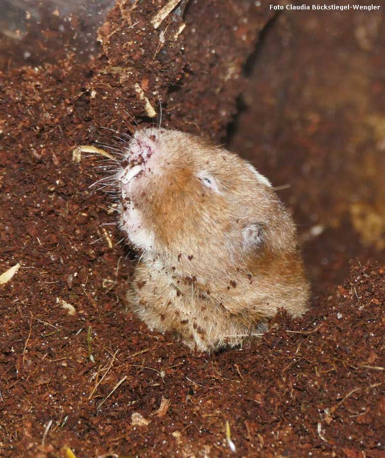
{"type": "Polygon", "coordinates": [[[127,150],[120,226],[137,248],[210,268],[294,246],[291,218],[269,181],[235,154],[157,128],[138,130],[127,150]]]}

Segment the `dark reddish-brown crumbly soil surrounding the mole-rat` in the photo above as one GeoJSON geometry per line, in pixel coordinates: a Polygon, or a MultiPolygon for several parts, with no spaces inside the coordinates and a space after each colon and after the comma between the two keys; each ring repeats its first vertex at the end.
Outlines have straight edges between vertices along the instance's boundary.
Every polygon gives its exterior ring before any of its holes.
{"type": "Polygon", "coordinates": [[[382,13],[199,0],[154,29],[165,3],[117,2],[87,62],[0,74],[0,274],[20,264],[0,286],[0,452],[384,458],[382,13]],[[336,103],[326,87],[346,68],[336,103]],[[107,158],[76,147],[121,149],[108,129],[157,123],[160,104],[163,126],[226,141],[290,184],[278,192],[300,224],[312,308],[242,349],[194,353],[125,313],[135,253],[90,187],[107,158]]]}

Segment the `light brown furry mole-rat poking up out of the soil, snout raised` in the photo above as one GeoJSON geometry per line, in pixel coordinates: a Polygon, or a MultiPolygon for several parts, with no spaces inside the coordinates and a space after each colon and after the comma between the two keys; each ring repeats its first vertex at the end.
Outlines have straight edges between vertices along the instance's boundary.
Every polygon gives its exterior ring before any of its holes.
{"type": "Polygon", "coordinates": [[[117,173],[119,226],[141,252],[127,293],[150,328],[199,350],[242,344],[307,310],[296,228],[269,180],[223,147],[137,130],[117,173]]]}

